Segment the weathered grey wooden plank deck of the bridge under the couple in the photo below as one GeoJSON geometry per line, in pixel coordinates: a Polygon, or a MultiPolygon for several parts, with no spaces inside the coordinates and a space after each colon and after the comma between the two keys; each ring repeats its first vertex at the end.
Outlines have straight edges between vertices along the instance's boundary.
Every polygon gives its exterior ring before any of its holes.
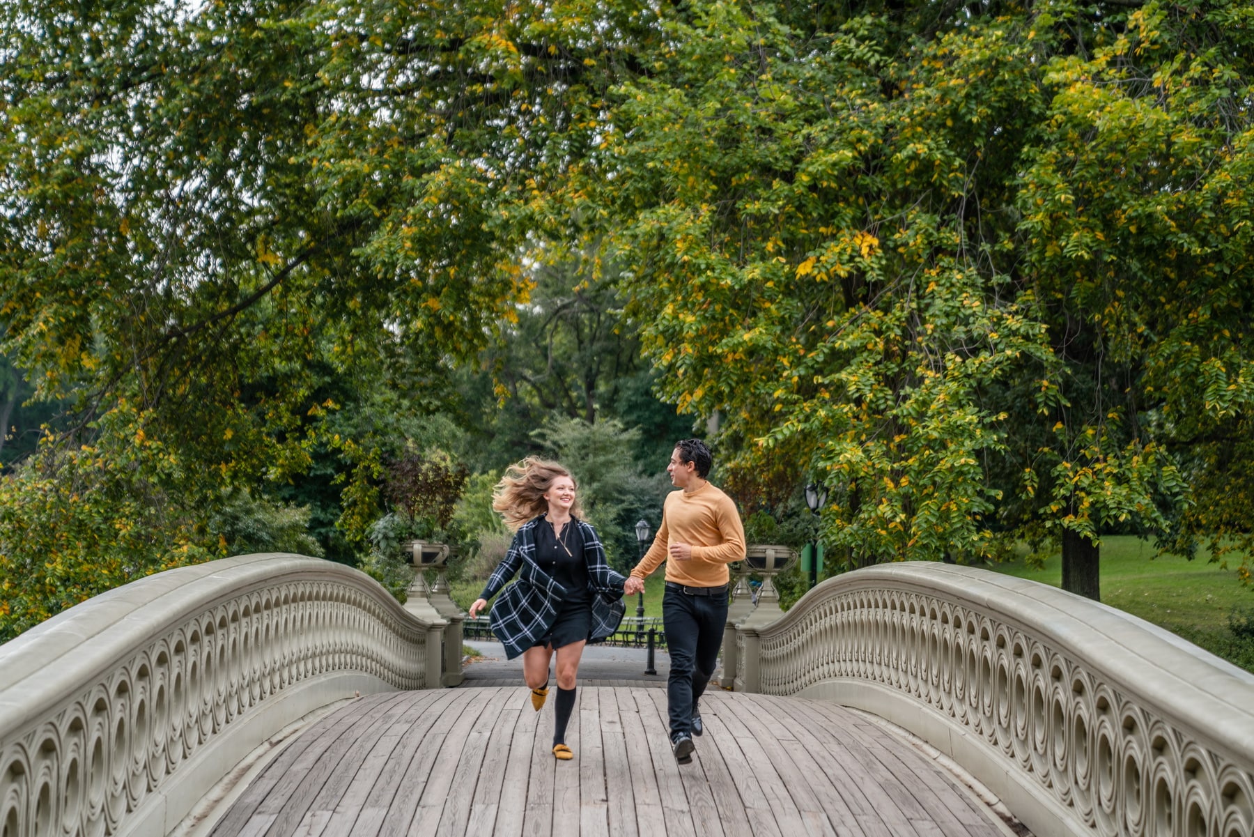
{"type": "Polygon", "coordinates": [[[556,762],[522,685],[360,698],[296,738],[214,837],[614,834],[1004,837],[908,743],[839,706],[707,694],[680,767],[666,690],[581,686],[556,762]]]}

